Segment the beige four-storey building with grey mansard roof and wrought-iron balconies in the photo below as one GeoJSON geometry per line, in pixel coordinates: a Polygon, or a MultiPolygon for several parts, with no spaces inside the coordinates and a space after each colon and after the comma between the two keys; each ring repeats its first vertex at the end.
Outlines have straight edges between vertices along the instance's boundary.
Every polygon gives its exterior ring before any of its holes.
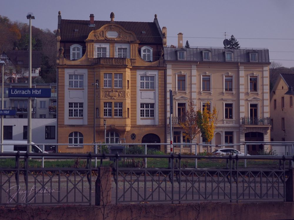
{"type": "MultiPolygon", "coordinates": [[[[165,47],[167,93],[167,142],[173,123],[175,151],[190,152],[184,145],[183,120],[188,100],[203,109],[209,102],[216,106],[218,123],[211,144],[234,144],[242,141],[270,141],[269,54],[267,49],[183,48],[165,47]],[[173,91],[173,115],[169,118],[169,90],[173,91]]],[[[212,109],[212,108],[211,108],[212,109]]],[[[203,143],[199,134],[193,143],[203,143]]],[[[244,151],[243,145],[234,146],[244,151]]],[[[248,145],[248,153],[268,150],[265,145],[248,145]]],[[[169,150],[169,149],[168,149],[169,150]]],[[[195,151],[195,149],[192,149],[195,151]]]]}

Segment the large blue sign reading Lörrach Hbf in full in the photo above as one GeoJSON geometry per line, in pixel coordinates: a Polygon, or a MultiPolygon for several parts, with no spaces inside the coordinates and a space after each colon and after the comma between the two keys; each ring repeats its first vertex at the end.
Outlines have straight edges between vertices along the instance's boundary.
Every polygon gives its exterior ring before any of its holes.
{"type": "Polygon", "coordinates": [[[8,88],[8,97],[39,97],[50,98],[51,89],[39,88],[8,88]]]}

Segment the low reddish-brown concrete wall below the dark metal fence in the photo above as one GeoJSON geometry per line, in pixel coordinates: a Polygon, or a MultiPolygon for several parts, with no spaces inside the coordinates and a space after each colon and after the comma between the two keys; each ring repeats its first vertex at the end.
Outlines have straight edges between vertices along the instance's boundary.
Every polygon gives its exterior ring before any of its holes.
{"type": "Polygon", "coordinates": [[[8,219],[294,219],[293,202],[0,207],[8,219]]]}

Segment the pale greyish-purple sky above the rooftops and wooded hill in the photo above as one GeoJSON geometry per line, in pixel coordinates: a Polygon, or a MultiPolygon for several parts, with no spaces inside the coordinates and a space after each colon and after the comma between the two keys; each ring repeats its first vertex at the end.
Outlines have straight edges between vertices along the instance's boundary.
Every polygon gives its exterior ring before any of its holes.
{"type": "Polygon", "coordinates": [[[153,22],[167,28],[167,45],[177,45],[177,34],[190,46],[223,47],[234,35],[241,48],[268,48],[270,62],[294,67],[293,0],[10,0],[3,1],[0,15],[11,21],[29,23],[41,29],[57,29],[58,11],[62,19],[153,22]]]}

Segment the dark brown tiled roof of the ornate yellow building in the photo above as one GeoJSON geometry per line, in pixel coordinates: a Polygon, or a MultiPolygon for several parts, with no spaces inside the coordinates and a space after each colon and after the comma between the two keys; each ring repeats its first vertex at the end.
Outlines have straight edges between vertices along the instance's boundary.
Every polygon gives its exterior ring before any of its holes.
{"type": "MultiPolygon", "coordinates": [[[[61,41],[84,41],[88,34],[101,28],[110,21],[94,21],[95,27],[89,26],[90,21],[61,19],[60,36],[61,41]],[[78,31],[75,31],[78,29],[78,31]]],[[[154,22],[133,22],[133,21],[114,21],[127,31],[136,34],[140,43],[162,44],[162,38],[154,22]],[[145,33],[142,33],[145,31],[145,33]]]]}

